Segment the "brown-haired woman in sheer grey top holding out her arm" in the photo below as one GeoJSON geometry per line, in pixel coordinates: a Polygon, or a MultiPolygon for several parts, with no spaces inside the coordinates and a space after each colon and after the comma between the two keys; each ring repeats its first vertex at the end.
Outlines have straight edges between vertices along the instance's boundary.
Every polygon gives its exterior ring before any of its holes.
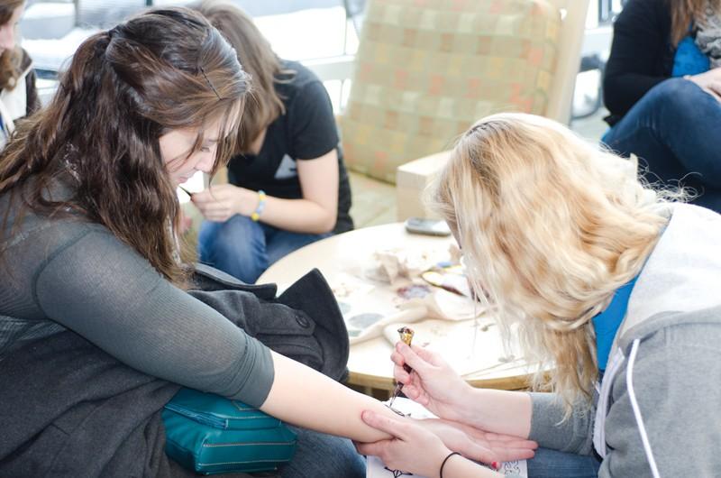
{"type": "Polygon", "coordinates": [[[84,41],[50,105],[18,124],[0,154],[1,475],[192,474],[163,453],[179,384],[296,425],[281,476],[364,476],[339,437],[387,437],[360,410],[392,412],[186,290],[176,188],[227,161],[249,81],[200,14],[151,10],[84,41]]]}

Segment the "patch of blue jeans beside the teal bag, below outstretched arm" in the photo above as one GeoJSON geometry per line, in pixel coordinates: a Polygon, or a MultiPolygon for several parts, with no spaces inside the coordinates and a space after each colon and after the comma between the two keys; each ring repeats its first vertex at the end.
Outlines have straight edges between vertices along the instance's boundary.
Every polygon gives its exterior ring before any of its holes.
{"type": "Polygon", "coordinates": [[[351,440],[290,428],[298,435],[298,445],[296,455],[280,469],[281,478],[365,478],[365,458],[351,440]]]}

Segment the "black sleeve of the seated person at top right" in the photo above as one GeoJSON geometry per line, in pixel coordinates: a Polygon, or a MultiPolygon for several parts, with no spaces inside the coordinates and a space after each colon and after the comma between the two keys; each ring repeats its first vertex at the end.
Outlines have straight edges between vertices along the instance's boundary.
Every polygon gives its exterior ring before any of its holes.
{"type": "Polygon", "coordinates": [[[614,40],[603,82],[604,101],[622,116],[667,77],[659,75],[669,37],[662,0],[630,0],[614,25],[614,40]]]}

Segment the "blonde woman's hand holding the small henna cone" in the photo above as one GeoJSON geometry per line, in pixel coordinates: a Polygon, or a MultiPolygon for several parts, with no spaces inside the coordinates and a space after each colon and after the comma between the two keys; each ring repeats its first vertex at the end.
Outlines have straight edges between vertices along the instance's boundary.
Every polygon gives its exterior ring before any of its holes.
{"type": "Polygon", "coordinates": [[[403,383],[406,397],[431,410],[439,418],[464,420],[462,409],[472,400],[472,388],[440,355],[423,347],[409,347],[398,342],[390,358],[395,363],[393,375],[403,383]],[[413,372],[406,372],[406,364],[413,372]]]}

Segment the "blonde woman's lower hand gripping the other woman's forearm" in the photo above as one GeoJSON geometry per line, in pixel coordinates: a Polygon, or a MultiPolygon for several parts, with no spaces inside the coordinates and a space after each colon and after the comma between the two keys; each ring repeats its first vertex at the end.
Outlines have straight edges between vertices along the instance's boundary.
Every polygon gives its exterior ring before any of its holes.
{"type": "Polygon", "coordinates": [[[441,438],[409,418],[394,418],[366,410],[361,418],[392,438],[357,444],[358,453],[379,456],[388,468],[423,476],[437,476],[443,459],[451,453],[441,438]]]}

